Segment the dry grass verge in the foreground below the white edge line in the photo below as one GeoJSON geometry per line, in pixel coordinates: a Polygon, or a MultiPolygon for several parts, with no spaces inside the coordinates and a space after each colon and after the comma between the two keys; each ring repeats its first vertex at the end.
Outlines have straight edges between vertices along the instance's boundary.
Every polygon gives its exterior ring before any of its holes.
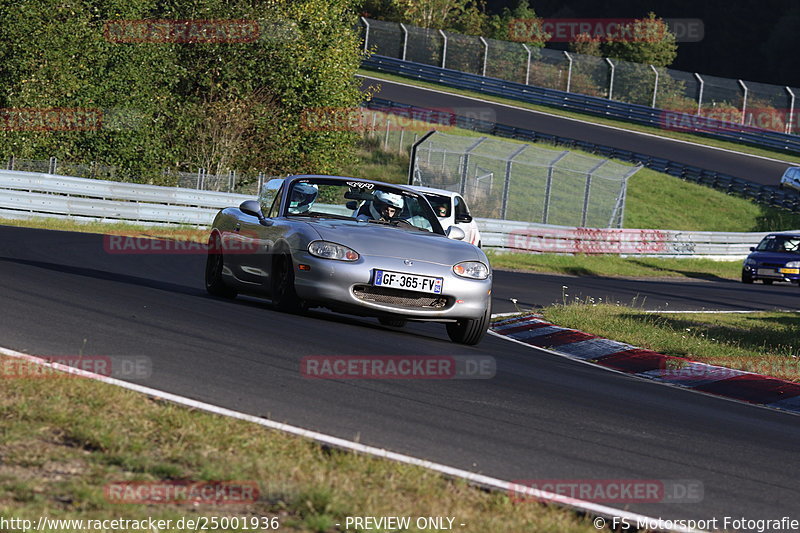
{"type": "MultiPolygon", "coordinates": [[[[0,357],[0,370],[9,361],[0,357]]],[[[458,527],[465,533],[595,531],[564,509],[515,504],[507,494],[423,468],[324,448],[88,379],[0,379],[6,519],[261,516],[278,517],[281,531],[332,533],[343,530],[334,524],[347,516],[451,516],[466,524],[458,527]],[[235,504],[109,501],[104,487],[126,481],[255,482],[260,496],[235,504]]]]}

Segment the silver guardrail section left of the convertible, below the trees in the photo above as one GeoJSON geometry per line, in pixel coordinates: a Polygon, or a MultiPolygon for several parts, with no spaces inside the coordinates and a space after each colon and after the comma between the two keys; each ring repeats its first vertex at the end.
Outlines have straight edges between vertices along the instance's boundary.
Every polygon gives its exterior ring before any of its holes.
{"type": "Polygon", "coordinates": [[[0,170],[0,217],[210,225],[252,196],[0,170]]]}

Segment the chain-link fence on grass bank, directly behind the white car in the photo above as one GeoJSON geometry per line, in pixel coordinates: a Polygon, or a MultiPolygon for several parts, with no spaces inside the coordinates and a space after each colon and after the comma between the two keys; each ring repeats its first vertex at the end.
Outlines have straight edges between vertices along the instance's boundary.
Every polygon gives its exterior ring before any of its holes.
{"type": "Polygon", "coordinates": [[[640,166],[487,137],[433,132],[413,152],[413,183],[458,192],[474,216],[621,228],[640,166]]]}

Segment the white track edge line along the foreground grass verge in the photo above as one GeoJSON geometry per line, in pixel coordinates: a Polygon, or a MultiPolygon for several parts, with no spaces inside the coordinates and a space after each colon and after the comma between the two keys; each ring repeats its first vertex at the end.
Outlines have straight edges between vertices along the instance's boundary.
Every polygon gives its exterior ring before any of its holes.
{"type": "MultiPolygon", "coordinates": [[[[234,411],[232,409],[227,409],[225,407],[219,407],[216,405],[208,404],[205,402],[200,402],[197,400],[192,400],[191,398],[186,398],[183,396],[179,396],[177,394],[172,394],[169,392],[160,391],[157,389],[151,389],[149,387],[144,387],[142,385],[136,385],[134,383],[128,383],[127,381],[122,381],[115,378],[110,378],[108,376],[102,376],[99,374],[95,374],[92,372],[87,372],[85,370],[81,370],[78,368],[74,368],[68,365],[63,365],[61,363],[51,363],[45,359],[40,357],[36,357],[33,355],[25,354],[22,352],[17,352],[15,350],[11,350],[9,348],[4,348],[0,346],[0,354],[6,355],[8,357],[13,357],[16,359],[23,359],[26,361],[30,361],[32,363],[53,368],[56,370],[61,370],[63,372],[67,372],[70,374],[77,374],[79,376],[93,379],[96,381],[101,381],[103,383],[107,383],[109,385],[116,385],[118,387],[122,387],[124,389],[128,389],[134,392],[139,392],[142,394],[147,394],[149,396],[153,396],[156,398],[160,398],[162,400],[167,400],[179,405],[183,405],[186,407],[191,407],[194,409],[206,411],[209,413],[226,416],[229,418],[235,418],[237,420],[243,420],[245,422],[251,422],[254,424],[258,424],[260,426],[264,426],[269,429],[274,429],[277,431],[283,431],[284,433],[289,433],[291,435],[296,435],[299,437],[305,437],[308,439],[315,440],[317,442],[321,442],[323,444],[327,444],[330,446],[334,446],[336,448],[343,448],[345,450],[350,450],[357,453],[362,453],[366,455],[372,455],[376,457],[380,457],[383,459],[390,459],[392,461],[396,461],[399,463],[404,463],[412,466],[418,466],[422,468],[426,468],[428,470],[433,470],[434,472],[439,472],[446,476],[461,478],[466,481],[473,482],[475,484],[489,487],[492,489],[501,489],[506,491],[506,493],[510,493],[514,491],[515,493],[522,493],[525,496],[534,498],[536,500],[541,500],[543,502],[550,502],[557,505],[570,507],[572,509],[577,509],[582,512],[586,513],[593,513],[601,516],[605,516],[607,518],[619,517],[619,518],[627,518],[628,520],[637,520],[641,522],[647,523],[661,523],[665,522],[665,519],[654,518],[646,515],[640,515],[636,513],[631,513],[628,511],[623,511],[620,509],[614,509],[612,507],[607,507],[605,505],[598,505],[596,503],[587,502],[584,500],[578,500],[575,498],[569,498],[565,496],[560,496],[555,493],[542,491],[539,489],[534,489],[532,487],[521,486],[517,483],[511,483],[509,481],[504,481],[501,479],[493,478],[490,476],[484,476],[482,474],[476,474],[474,472],[469,472],[467,470],[462,470],[460,468],[455,468],[452,466],[447,466],[439,463],[434,463],[432,461],[427,461],[425,459],[419,459],[417,457],[412,457],[410,455],[405,455],[401,453],[392,452],[383,448],[376,448],[374,446],[367,446],[365,444],[361,444],[358,442],[349,441],[346,439],[342,439],[339,437],[334,437],[332,435],[326,435],[324,433],[319,433],[317,431],[312,431],[308,429],[304,429],[298,426],[292,426],[290,424],[284,424],[281,422],[275,422],[273,420],[267,420],[264,418],[260,418],[253,415],[248,415],[246,413],[241,413],[238,411],[234,411]]],[[[666,530],[662,530],[666,531],[666,530]]],[[[680,531],[686,533],[695,533],[698,532],[696,529],[689,529],[689,528],[675,528],[669,531],[680,531]]]]}

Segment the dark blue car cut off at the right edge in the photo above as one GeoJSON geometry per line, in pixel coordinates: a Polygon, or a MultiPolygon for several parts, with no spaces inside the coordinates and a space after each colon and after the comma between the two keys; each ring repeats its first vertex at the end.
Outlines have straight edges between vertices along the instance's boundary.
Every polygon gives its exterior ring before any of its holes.
{"type": "Polygon", "coordinates": [[[742,266],[742,283],[800,283],[800,232],[770,233],[750,252],[742,266]]]}

